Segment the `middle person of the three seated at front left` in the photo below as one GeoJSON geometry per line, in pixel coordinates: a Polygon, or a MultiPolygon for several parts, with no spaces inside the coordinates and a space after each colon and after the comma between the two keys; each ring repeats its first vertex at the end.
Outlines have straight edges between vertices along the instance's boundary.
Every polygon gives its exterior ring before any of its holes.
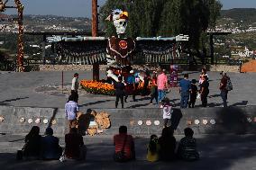
{"type": "Polygon", "coordinates": [[[59,139],[53,136],[53,130],[47,128],[45,137],[41,138],[41,158],[44,160],[57,160],[62,155],[59,139]]]}

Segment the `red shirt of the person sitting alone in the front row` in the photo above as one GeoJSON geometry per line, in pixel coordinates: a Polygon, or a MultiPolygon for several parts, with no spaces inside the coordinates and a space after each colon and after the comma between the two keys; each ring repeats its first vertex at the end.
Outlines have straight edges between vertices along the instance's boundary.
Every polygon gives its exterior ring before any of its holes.
{"type": "Polygon", "coordinates": [[[121,133],[118,135],[114,135],[114,152],[124,151],[124,155],[126,158],[132,158],[132,148],[134,145],[133,137],[131,135],[127,135],[126,133],[121,133]],[[125,146],[123,148],[124,139],[126,136],[125,146]]]}

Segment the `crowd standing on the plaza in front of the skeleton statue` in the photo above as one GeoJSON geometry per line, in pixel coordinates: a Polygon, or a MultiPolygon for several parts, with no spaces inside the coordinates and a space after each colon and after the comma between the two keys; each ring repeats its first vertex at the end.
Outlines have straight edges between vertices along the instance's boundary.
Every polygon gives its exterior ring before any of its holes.
{"type": "MultiPolygon", "coordinates": [[[[169,78],[166,75],[165,69],[158,69],[153,71],[137,72],[131,70],[127,76],[118,76],[118,81],[112,81],[114,85],[116,101],[115,108],[118,107],[119,100],[123,108],[123,99],[127,103],[129,95],[133,95],[133,102],[136,102],[135,95],[141,94],[142,96],[150,95],[150,104],[153,100],[160,105],[161,101],[166,98],[166,94],[170,91],[169,78]],[[139,75],[139,76],[138,76],[139,75]],[[142,84],[143,88],[141,93],[138,92],[138,86],[142,84]]],[[[209,94],[209,76],[206,69],[202,68],[202,73],[197,80],[188,79],[188,74],[184,74],[184,78],[179,81],[179,94],[180,94],[180,108],[194,108],[197,98],[201,100],[202,107],[207,107],[207,97],[209,94]],[[190,100],[189,100],[190,99],[190,100]]],[[[222,73],[222,79],[219,89],[220,95],[223,99],[224,107],[227,107],[227,94],[233,89],[230,77],[226,73],[222,73]]]]}

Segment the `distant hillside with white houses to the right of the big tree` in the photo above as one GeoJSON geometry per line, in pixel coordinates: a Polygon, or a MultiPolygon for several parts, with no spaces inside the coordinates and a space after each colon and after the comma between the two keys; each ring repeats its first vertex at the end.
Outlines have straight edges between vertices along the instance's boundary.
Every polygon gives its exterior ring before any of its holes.
{"type": "Polygon", "coordinates": [[[208,31],[231,32],[215,37],[215,49],[224,58],[256,57],[256,9],[236,8],[222,11],[215,29],[208,31]]]}

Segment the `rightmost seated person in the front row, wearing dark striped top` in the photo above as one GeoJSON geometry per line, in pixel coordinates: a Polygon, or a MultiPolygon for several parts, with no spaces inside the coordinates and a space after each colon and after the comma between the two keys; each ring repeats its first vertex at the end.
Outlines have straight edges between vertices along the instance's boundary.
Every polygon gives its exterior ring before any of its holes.
{"type": "Polygon", "coordinates": [[[184,133],[185,137],[180,139],[178,145],[178,158],[187,161],[199,159],[199,154],[197,152],[197,141],[193,138],[194,131],[191,128],[186,128],[184,133]]]}

